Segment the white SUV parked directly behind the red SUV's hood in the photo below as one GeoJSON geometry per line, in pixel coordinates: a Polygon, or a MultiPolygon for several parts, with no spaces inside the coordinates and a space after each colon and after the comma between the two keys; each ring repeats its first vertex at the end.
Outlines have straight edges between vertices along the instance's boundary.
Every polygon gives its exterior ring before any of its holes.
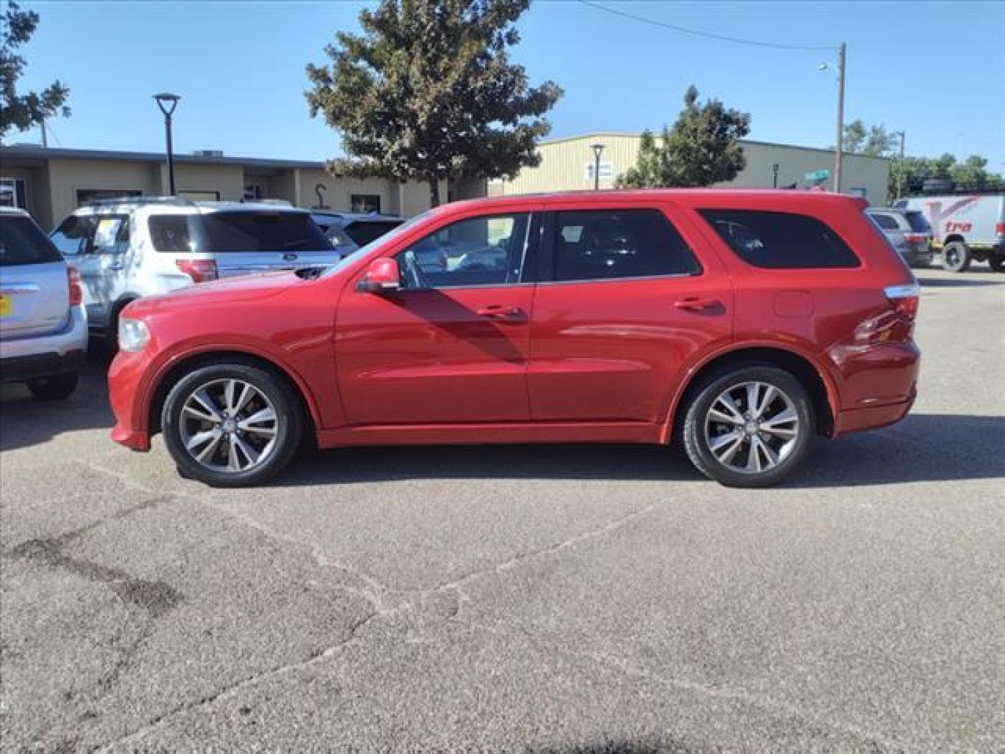
{"type": "Polygon", "coordinates": [[[144,296],[338,260],[305,210],[171,197],[88,204],[52,240],[80,272],[91,330],[110,335],[126,305],[144,296]]]}

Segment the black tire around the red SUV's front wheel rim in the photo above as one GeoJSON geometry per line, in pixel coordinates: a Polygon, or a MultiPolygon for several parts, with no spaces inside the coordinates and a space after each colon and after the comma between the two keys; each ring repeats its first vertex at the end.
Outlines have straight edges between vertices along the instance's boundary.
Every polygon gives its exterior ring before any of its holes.
{"type": "MultiPolygon", "coordinates": [[[[239,414],[235,414],[233,418],[236,422],[239,414]]],[[[203,428],[212,431],[214,425],[212,422],[204,422],[203,428]]],[[[304,412],[295,389],[284,376],[256,365],[221,361],[203,364],[189,372],[171,388],[161,413],[161,431],[168,451],[182,477],[197,480],[210,487],[249,487],[272,479],[290,461],[303,438],[304,412]],[[183,419],[182,411],[186,402],[200,387],[216,385],[227,380],[239,380],[254,387],[263,400],[271,403],[275,414],[274,440],[271,441],[265,458],[244,470],[209,467],[192,455],[186,448],[183,438],[183,432],[190,428],[184,422],[196,421],[188,414],[183,419]]],[[[230,433],[233,434],[235,431],[230,433]]],[[[224,440],[226,439],[233,440],[224,437],[224,440]]],[[[226,442],[221,442],[220,450],[214,451],[208,460],[211,462],[217,452],[226,451],[226,442]]]]}

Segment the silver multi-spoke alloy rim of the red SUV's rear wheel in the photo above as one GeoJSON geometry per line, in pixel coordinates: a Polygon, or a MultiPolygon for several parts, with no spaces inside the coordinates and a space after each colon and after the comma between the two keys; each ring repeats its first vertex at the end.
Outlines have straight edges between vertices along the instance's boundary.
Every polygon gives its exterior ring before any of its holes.
{"type": "Polygon", "coordinates": [[[713,401],[705,439],[716,459],[742,474],[760,474],[782,463],[801,431],[792,399],[775,385],[742,382],[713,401]]]}

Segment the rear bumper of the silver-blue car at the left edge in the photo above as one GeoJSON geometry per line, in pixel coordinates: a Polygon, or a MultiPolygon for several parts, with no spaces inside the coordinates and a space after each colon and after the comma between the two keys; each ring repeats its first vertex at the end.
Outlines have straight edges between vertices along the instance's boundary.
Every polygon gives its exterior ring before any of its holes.
{"type": "Polygon", "coordinates": [[[75,372],[86,351],[87,317],[83,307],[73,307],[58,333],[0,341],[0,382],[75,372]]]}

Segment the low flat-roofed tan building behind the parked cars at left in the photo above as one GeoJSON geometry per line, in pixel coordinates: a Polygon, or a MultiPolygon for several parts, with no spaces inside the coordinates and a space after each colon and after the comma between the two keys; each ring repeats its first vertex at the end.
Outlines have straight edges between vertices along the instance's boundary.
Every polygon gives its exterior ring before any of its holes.
{"type": "MultiPolygon", "coordinates": [[[[379,178],[334,178],[323,162],[175,156],[175,187],[194,200],[282,199],[297,207],[410,216],[429,208],[429,187],[379,178]]],[[[0,146],[0,204],[27,209],[45,229],[94,199],[168,193],[163,154],[0,146]]],[[[481,180],[443,182],[448,200],[484,196],[481,180]]]]}

